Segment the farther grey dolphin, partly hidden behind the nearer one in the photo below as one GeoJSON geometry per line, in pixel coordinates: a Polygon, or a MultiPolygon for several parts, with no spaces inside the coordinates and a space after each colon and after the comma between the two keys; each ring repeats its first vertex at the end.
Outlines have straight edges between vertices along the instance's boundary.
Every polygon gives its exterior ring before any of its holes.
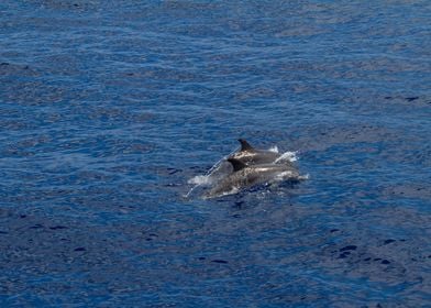
{"type": "Polygon", "coordinates": [[[246,165],[270,164],[275,163],[281,155],[274,151],[256,150],[244,139],[237,140],[241,143],[241,150],[230,158],[241,161],[246,165]]]}

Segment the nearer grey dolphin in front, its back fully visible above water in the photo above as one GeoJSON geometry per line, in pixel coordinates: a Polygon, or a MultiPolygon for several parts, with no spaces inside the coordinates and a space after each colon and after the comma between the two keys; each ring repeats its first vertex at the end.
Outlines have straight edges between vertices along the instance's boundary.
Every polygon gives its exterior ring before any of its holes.
{"type": "Polygon", "coordinates": [[[237,158],[228,158],[233,172],[221,179],[208,194],[206,198],[221,197],[235,194],[244,188],[258,184],[267,184],[280,180],[299,180],[298,170],[291,165],[285,164],[259,164],[246,165],[237,158]]]}

